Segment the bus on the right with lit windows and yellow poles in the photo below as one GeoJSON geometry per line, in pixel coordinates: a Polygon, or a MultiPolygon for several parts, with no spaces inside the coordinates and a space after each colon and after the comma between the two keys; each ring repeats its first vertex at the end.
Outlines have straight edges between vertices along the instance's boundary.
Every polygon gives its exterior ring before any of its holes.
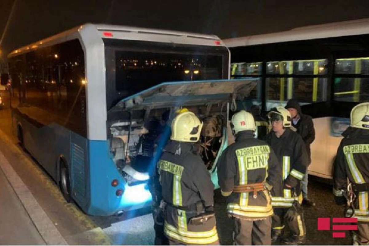
{"type": "Polygon", "coordinates": [[[297,98],[311,115],[315,141],[309,174],[331,179],[332,163],[349,125],[350,111],[369,100],[369,19],[294,28],[224,40],[231,77],[261,78],[252,104],[269,111],[297,98]]]}

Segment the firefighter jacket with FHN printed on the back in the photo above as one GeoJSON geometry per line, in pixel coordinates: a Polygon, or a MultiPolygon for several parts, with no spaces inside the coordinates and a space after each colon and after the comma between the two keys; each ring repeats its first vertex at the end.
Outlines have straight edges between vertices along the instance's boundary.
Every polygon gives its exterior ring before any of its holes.
{"type": "Polygon", "coordinates": [[[280,187],[282,169],[270,146],[254,138],[253,131],[241,131],[235,143],[225,149],[218,162],[218,183],[223,195],[229,195],[227,211],[236,218],[264,219],[273,215],[269,190],[280,187]],[[266,190],[234,193],[235,186],[265,183],[266,190]]]}

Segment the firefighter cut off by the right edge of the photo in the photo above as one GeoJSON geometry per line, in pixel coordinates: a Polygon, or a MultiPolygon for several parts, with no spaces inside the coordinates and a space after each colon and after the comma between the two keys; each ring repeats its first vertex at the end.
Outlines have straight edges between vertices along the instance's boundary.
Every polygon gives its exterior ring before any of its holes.
{"type": "Polygon", "coordinates": [[[333,193],[337,204],[348,202],[345,216],[358,218],[354,245],[369,245],[369,103],[352,109],[350,127],[342,136],[334,163],[333,193]]]}

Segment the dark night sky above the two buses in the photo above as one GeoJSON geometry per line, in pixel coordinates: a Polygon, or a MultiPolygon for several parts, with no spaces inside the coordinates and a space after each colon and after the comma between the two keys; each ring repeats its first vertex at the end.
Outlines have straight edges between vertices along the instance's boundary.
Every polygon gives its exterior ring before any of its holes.
{"type": "MultiPolygon", "coordinates": [[[[0,34],[13,3],[0,0],[0,34]]],[[[86,22],[230,38],[367,17],[368,0],[17,0],[0,49],[4,58],[14,48],[86,22]]]]}

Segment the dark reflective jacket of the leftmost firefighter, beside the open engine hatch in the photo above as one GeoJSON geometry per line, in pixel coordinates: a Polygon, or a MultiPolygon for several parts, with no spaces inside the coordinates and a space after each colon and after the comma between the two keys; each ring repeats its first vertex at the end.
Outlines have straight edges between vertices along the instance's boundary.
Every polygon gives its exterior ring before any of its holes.
{"type": "Polygon", "coordinates": [[[204,223],[195,218],[213,209],[214,184],[193,143],[169,141],[158,162],[165,207],[164,232],[183,244],[218,241],[215,216],[204,223]],[[197,217],[196,217],[197,216],[197,217]]]}

